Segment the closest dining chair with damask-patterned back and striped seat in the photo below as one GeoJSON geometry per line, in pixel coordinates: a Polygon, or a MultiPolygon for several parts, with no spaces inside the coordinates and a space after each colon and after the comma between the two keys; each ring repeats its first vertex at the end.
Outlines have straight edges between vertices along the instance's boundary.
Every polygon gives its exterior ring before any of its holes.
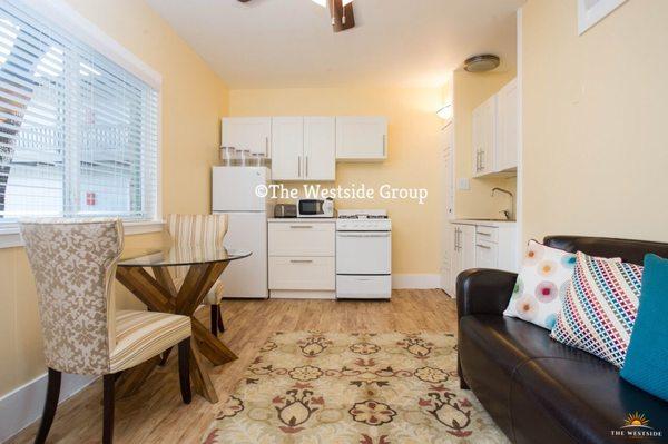
{"type": "Polygon", "coordinates": [[[51,428],[62,372],[102,376],[105,444],[114,436],[115,376],[177,344],[181,397],[189,404],[190,318],[115,310],[112,285],[124,241],[120,220],[39,219],[20,226],[37,284],[49,368],[35,442],[46,442],[51,428]]]}

